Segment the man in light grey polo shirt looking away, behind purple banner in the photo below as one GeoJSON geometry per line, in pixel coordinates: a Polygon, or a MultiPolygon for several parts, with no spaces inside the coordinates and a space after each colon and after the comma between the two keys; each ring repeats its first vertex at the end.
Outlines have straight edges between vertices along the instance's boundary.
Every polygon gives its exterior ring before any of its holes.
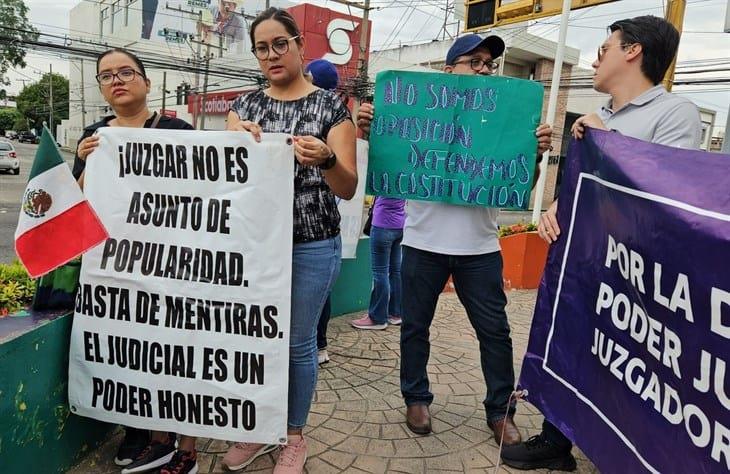
{"type": "MultiPolygon", "coordinates": [[[[576,120],[573,136],[583,138],[585,127],[614,130],[626,136],[677,148],[697,149],[702,125],[692,102],[672,95],[660,84],[677,54],[679,33],[667,21],[640,16],[609,26],[611,35],[598,48],[593,62],[593,88],[611,95],[596,113],[576,120]]],[[[548,243],[560,236],[557,201],[545,212],[538,233],[548,243]]],[[[505,447],[502,460],[518,469],[572,471],[572,443],[545,420],[543,431],[524,443],[505,447]]]]}

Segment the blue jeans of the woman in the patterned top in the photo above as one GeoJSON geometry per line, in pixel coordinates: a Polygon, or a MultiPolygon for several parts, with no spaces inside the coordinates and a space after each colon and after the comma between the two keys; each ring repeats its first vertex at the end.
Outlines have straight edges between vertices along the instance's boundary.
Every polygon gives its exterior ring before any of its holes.
{"type": "Polygon", "coordinates": [[[340,236],[294,244],[289,335],[289,428],[307,424],[317,385],[317,322],[340,273],[340,236]]]}

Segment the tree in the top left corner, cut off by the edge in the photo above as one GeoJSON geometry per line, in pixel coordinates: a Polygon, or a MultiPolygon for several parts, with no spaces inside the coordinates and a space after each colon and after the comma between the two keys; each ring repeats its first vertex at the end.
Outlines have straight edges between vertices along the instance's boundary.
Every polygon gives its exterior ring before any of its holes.
{"type": "Polygon", "coordinates": [[[38,30],[28,21],[28,7],[23,0],[0,1],[0,86],[10,81],[8,68],[25,67],[26,41],[38,39],[38,30]]]}

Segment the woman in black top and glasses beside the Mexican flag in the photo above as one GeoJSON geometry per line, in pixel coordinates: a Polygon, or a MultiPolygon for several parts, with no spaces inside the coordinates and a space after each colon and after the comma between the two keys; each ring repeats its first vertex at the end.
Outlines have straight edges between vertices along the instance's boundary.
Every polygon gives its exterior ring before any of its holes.
{"type": "MultiPolygon", "coordinates": [[[[95,135],[98,129],[133,127],[193,130],[184,120],[150,111],[147,106],[150,80],[142,61],[129,51],[114,48],[102,53],[96,60],[96,72],[101,94],[114,115],[86,127],[79,140],[73,175],[82,188],[86,159],[99,146],[99,137],[95,135]]],[[[177,450],[175,438],[175,433],[148,432],[127,427],[114,462],[124,466],[123,474],[146,472],[160,467],[162,474],[197,472],[195,438],[182,436],[177,450]]]]}

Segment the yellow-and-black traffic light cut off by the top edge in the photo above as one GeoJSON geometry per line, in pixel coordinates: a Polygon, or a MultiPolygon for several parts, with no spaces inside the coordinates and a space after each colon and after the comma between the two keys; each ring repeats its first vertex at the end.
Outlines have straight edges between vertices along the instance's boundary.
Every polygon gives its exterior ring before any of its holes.
{"type": "MultiPolygon", "coordinates": [[[[593,7],[618,0],[572,0],[571,10],[593,7]]],[[[479,31],[495,26],[509,25],[559,15],[562,0],[466,0],[464,31],[479,31]]]]}

